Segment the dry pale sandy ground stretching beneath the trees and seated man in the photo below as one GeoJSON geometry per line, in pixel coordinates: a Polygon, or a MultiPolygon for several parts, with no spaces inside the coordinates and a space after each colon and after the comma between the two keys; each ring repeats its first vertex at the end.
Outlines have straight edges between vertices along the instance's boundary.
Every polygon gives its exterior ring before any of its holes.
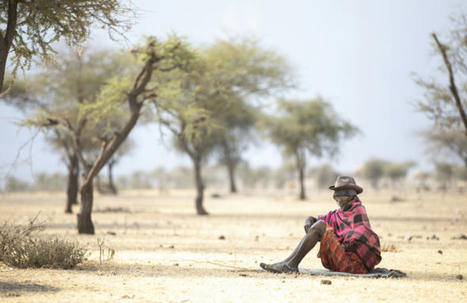
{"type": "MultiPolygon", "coordinates": [[[[259,262],[281,260],[295,247],[306,216],[336,207],[328,193],[310,193],[307,202],[278,193],[217,199],[208,193],[209,217],[194,215],[189,191],[96,196],[95,236],[77,235],[75,215],[63,213],[62,194],[1,195],[0,220],[25,223],[41,211],[45,236],[77,240],[90,255],[73,270],[0,265],[0,301],[466,302],[467,240],[452,238],[467,234],[467,196],[400,195],[411,198],[391,203],[388,194],[370,192],[361,199],[381,244],[396,248],[383,253],[379,266],[405,271],[403,279],[258,271],[259,262]],[[102,212],[106,207],[129,212],[102,212]],[[98,238],[115,250],[113,260],[99,264],[98,238]]],[[[301,267],[322,268],[316,251],[301,267]]]]}

